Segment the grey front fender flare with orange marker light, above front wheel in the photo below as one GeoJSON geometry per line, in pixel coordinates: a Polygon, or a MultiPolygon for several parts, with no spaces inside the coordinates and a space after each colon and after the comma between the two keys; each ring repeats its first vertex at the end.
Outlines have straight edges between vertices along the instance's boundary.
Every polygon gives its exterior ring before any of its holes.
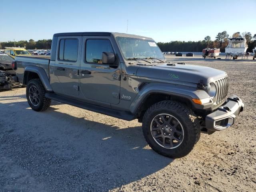
{"type": "Polygon", "coordinates": [[[189,86],[177,86],[172,84],[163,83],[149,83],[138,92],[137,96],[134,98],[132,104],[130,105],[130,112],[138,113],[142,104],[146,101],[150,94],[166,94],[170,96],[179,96],[181,98],[186,98],[191,101],[192,106],[196,109],[205,109],[212,106],[213,103],[199,105],[192,102],[192,98],[204,99],[209,98],[209,95],[204,90],[197,90],[194,87],[189,86]]]}

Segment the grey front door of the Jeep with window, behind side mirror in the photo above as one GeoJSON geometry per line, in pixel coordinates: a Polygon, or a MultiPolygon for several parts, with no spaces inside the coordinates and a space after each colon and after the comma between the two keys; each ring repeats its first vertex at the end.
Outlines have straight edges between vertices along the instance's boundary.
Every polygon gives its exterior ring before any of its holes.
{"type": "MultiPolygon", "coordinates": [[[[116,52],[110,37],[84,36],[80,68],[80,88],[86,99],[119,103],[120,63],[118,68],[102,64],[102,52],[116,52]]],[[[116,61],[118,62],[118,61],[116,61]]]]}

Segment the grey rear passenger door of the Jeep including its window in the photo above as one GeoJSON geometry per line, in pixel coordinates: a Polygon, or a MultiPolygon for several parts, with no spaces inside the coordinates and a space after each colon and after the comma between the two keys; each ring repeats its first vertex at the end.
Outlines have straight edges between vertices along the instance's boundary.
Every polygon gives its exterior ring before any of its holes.
{"type": "Polygon", "coordinates": [[[54,74],[60,86],[54,92],[77,96],[79,94],[79,65],[81,36],[58,37],[54,74]]]}

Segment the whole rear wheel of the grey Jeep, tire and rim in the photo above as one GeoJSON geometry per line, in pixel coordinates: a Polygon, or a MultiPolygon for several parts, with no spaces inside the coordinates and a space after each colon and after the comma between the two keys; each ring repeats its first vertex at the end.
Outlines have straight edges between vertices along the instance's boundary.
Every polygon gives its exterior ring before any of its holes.
{"type": "Polygon", "coordinates": [[[28,82],[26,97],[34,111],[44,111],[51,105],[51,100],[45,97],[45,89],[40,79],[32,79],[28,82]]]}

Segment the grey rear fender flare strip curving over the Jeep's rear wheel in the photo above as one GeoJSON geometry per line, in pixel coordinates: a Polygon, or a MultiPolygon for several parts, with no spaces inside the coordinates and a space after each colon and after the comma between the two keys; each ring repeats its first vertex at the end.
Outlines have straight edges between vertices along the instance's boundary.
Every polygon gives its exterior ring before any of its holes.
{"type": "Polygon", "coordinates": [[[45,72],[45,70],[41,67],[38,66],[26,66],[26,68],[24,69],[24,78],[23,78],[23,84],[26,84],[26,74],[27,72],[33,72],[38,74],[42,84],[44,85],[44,88],[46,91],[50,91],[52,92],[52,86],[50,85],[50,81],[49,78],[45,72]]]}

